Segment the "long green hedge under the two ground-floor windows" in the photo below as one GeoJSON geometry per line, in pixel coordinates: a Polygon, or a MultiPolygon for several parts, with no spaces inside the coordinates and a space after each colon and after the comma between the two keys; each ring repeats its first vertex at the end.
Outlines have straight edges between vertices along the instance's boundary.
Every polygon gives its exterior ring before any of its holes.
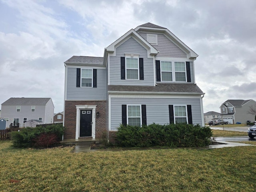
{"type": "Polygon", "coordinates": [[[212,130],[191,124],[120,125],[116,140],[124,147],[176,146],[199,147],[210,144],[212,130]]]}

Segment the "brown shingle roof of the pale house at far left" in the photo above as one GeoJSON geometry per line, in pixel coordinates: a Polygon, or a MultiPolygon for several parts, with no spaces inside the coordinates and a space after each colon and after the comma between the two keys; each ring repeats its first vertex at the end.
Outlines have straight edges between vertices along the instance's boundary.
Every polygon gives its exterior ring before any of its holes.
{"type": "Polygon", "coordinates": [[[46,105],[51,98],[16,98],[11,97],[2,105],[46,105]]]}

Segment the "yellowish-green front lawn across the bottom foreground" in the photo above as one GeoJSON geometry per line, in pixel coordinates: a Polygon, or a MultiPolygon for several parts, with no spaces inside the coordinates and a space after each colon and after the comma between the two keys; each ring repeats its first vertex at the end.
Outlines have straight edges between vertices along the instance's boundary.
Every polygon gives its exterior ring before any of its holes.
{"type": "Polygon", "coordinates": [[[0,142],[0,189],[9,191],[254,191],[254,146],[72,153],[0,142]]]}

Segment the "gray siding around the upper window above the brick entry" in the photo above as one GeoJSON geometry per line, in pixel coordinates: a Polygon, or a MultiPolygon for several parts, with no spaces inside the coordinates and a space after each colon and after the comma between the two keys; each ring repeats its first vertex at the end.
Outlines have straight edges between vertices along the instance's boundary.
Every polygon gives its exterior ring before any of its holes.
{"type": "Polygon", "coordinates": [[[67,100],[106,100],[106,70],[97,69],[97,87],[76,87],[76,68],[67,68],[67,100]]]}

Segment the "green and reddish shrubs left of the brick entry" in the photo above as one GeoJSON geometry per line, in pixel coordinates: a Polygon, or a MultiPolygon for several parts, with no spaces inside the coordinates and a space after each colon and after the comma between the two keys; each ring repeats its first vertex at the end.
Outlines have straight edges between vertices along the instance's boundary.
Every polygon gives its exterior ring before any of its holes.
{"type": "Polygon", "coordinates": [[[65,128],[62,126],[62,124],[53,124],[45,127],[39,126],[35,128],[23,128],[19,132],[11,132],[12,143],[14,147],[19,148],[52,146],[53,144],[59,143],[62,140],[64,129],[65,128]],[[52,140],[52,142],[49,140],[52,140]]]}

